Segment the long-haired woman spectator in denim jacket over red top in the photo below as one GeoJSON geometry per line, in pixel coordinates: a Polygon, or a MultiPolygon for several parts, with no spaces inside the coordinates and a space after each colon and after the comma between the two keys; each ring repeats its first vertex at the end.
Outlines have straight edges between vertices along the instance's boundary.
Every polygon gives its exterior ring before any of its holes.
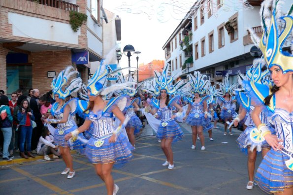
{"type": "Polygon", "coordinates": [[[34,158],[31,153],[31,139],[33,131],[33,111],[30,108],[29,101],[27,99],[22,100],[21,108],[18,110],[17,119],[19,121],[21,131],[20,131],[20,156],[24,159],[29,157],[34,158]],[[25,155],[25,142],[27,144],[27,155],[25,155]]]}

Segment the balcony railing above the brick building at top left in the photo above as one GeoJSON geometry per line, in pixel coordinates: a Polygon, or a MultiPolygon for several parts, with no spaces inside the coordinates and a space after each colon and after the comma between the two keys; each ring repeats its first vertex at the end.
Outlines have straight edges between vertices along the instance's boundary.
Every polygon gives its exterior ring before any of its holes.
{"type": "Polygon", "coordinates": [[[66,11],[78,11],[78,5],[69,3],[63,0],[28,0],[35,3],[47,5],[50,7],[56,7],[60,9],[64,9],[66,11]]]}

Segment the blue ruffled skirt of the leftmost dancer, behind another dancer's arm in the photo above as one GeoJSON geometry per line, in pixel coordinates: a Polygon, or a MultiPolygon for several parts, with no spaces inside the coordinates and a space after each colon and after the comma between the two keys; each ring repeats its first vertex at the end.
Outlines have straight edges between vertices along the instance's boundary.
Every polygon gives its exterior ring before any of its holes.
{"type": "MultiPolygon", "coordinates": [[[[85,143],[83,143],[79,139],[74,139],[74,138],[71,138],[68,141],[66,141],[64,139],[64,137],[65,137],[65,135],[67,133],[69,133],[69,132],[71,132],[73,130],[76,130],[77,128],[78,128],[77,126],[73,126],[72,128],[67,129],[67,130],[64,130],[64,131],[61,131],[59,129],[56,129],[55,130],[55,133],[54,133],[54,143],[57,146],[61,146],[61,147],[70,147],[70,146],[73,146],[73,149],[74,150],[77,150],[78,152],[82,152],[82,150],[85,147],[85,143]]],[[[84,136],[83,136],[82,133],[79,133],[78,134],[78,137],[84,138],[84,136]]]]}

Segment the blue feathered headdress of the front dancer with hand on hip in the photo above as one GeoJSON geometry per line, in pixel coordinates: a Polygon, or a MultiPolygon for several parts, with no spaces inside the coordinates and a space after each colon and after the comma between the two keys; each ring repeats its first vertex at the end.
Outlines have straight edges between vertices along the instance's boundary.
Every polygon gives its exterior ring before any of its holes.
{"type": "Polygon", "coordinates": [[[124,90],[124,89],[133,90],[132,88],[129,87],[129,83],[119,83],[119,84],[106,87],[107,74],[108,74],[107,65],[105,65],[102,61],[99,67],[97,68],[96,73],[94,74],[92,79],[90,79],[88,82],[87,89],[90,91],[90,96],[98,96],[98,95],[105,96],[116,90],[124,90]]]}

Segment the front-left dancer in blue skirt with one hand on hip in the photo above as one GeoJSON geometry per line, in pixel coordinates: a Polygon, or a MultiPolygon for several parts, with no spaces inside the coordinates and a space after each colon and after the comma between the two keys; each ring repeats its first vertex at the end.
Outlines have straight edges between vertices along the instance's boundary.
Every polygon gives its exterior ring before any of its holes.
{"type": "Polygon", "coordinates": [[[92,126],[85,154],[94,164],[98,176],[105,182],[108,195],[116,195],[118,186],[114,184],[111,171],[115,164],[125,164],[129,162],[133,147],[127,140],[127,137],[120,133],[120,130],[127,123],[121,110],[124,109],[127,98],[119,96],[106,102],[102,96],[105,96],[115,90],[130,89],[128,83],[115,84],[110,87],[104,87],[107,83],[108,68],[101,63],[95,75],[87,85],[89,106],[89,116],[84,124],[78,129],[66,134],[65,138],[77,136],[79,133],[88,130],[92,126]],[[121,121],[120,126],[115,130],[113,127],[113,114],[121,121]]]}

